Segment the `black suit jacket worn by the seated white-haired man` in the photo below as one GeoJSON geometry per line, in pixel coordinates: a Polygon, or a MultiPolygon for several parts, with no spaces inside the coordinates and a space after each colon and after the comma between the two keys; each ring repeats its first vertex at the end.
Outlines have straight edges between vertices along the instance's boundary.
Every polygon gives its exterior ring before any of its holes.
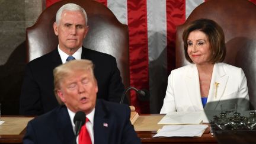
{"type": "MultiPolygon", "coordinates": [[[[94,75],[98,82],[97,98],[119,103],[124,85],[116,59],[84,47],[81,58],[94,63],[94,75]]],[[[62,65],[62,60],[57,49],[27,64],[20,96],[21,115],[40,115],[58,105],[53,91],[53,69],[59,65],[62,65]]],[[[125,103],[128,103],[127,100],[125,103]]]]}

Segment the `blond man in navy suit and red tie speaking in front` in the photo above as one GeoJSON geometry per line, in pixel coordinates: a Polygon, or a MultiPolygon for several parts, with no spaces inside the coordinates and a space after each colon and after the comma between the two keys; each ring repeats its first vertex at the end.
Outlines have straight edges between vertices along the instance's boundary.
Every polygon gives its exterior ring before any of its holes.
{"type": "Polygon", "coordinates": [[[94,144],[140,143],[130,123],[128,105],[96,100],[97,80],[90,60],[72,60],[54,70],[56,98],[60,104],[27,125],[23,143],[84,142],[82,131],[89,133],[86,140],[94,144]],[[75,137],[73,117],[77,111],[86,114],[87,122],[75,137]]]}

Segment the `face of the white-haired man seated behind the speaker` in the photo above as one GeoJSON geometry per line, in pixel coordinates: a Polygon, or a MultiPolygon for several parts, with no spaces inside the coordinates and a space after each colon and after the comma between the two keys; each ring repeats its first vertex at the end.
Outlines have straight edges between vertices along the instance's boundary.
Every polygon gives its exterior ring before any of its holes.
{"type": "Polygon", "coordinates": [[[59,25],[54,23],[53,28],[58,36],[60,49],[66,53],[79,49],[88,32],[85,16],[81,11],[64,10],[59,25]]]}

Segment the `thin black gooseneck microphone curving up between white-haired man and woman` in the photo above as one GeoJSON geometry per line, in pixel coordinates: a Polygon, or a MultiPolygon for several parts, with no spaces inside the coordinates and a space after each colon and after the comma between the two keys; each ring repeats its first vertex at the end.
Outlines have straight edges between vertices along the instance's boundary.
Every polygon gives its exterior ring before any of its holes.
{"type": "Polygon", "coordinates": [[[133,89],[136,91],[137,94],[137,98],[140,100],[140,101],[148,101],[149,100],[149,92],[148,90],[146,89],[137,89],[135,87],[128,87],[127,89],[125,89],[125,91],[123,92],[123,94],[121,95],[121,101],[120,101],[120,104],[123,104],[123,100],[124,100],[124,97],[126,96],[126,93],[130,90],[130,89],[133,89]]]}

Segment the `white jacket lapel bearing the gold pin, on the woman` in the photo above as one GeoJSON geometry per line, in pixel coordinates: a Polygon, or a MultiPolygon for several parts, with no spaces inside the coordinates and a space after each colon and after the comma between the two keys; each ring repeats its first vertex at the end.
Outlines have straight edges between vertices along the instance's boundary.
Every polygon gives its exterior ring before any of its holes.
{"type": "Polygon", "coordinates": [[[210,84],[207,104],[204,110],[215,110],[220,98],[223,96],[226,84],[228,82],[228,75],[224,71],[222,63],[216,63],[213,68],[212,81],[210,84]]]}

